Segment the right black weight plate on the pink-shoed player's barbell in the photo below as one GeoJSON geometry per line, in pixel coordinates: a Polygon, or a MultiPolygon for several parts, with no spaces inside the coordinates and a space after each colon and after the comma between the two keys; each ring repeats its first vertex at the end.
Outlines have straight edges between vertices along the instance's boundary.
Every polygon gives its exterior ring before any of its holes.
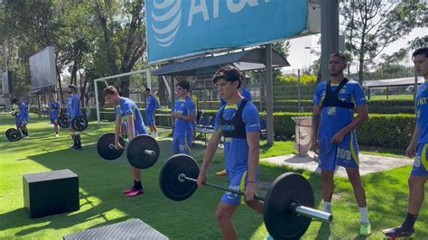
{"type": "Polygon", "coordinates": [[[136,136],[129,143],[126,156],[129,163],[136,169],[147,169],[154,165],[159,159],[159,143],[150,135],[136,136]],[[154,155],[147,154],[144,150],[153,151],[154,155]]]}

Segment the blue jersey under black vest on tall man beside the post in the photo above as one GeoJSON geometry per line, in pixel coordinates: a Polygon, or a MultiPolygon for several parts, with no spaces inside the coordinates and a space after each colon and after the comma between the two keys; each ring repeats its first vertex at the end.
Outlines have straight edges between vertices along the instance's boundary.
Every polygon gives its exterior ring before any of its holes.
{"type": "MultiPolygon", "coordinates": [[[[338,85],[331,84],[331,91],[334,91],[338,85]]],[[[313,105],[321,106],[322,100],[326,95],[327,81],[322,81],[315,89],[313,105]]],[[[367,104],[363,88],[358,81],[349,79],[347,84],[340,89],[339,99],[347,103],[354,103],[356,106],[367,104]]],[[[326,106],[321,110],[321,132],[320,137],[331,139],[340,129],[349,125],[354,119],[354,110],[340,106],[326,106]]],[[[355,130],[352,131],[355,135],[355,130]]],[[[347,134],[344,140],[349,140],[350,134],[347,134]]]]}

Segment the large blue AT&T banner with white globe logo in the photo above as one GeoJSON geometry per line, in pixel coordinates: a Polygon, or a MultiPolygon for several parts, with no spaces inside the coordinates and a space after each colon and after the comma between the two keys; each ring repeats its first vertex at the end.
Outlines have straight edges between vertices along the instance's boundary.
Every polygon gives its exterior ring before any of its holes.
{"type": "Polygon", "coordinates": [[[306,0],[146,0],[149,63],[293,37],[307,28],[306,0]]]}

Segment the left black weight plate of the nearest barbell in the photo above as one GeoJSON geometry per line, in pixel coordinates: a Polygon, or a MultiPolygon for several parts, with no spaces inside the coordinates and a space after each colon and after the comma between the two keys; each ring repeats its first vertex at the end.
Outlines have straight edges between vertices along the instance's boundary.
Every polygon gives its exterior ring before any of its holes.
{"type": "Polygon", "coordinates": [[[176,154],[169,158],[159,175],[159,185],[166,198],[182,201],[190,198],[198,189],[198,185],[194,181],[179,180],[180,174],[196,180],[200,175],[200,167],[191,156],[186,154],[176,154]]]}

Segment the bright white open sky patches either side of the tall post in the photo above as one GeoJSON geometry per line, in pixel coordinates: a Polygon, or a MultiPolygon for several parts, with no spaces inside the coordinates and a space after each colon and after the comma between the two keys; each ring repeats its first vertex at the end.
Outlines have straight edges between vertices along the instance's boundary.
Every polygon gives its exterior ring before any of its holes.
{"type": "MultiPolygon", "coordinates": [[[[407,42],[413,40],[416,37],[422,37],[425,35],[428,35],[428,27],[414,29],[414,31],[410,32],[407,36],[405,36],[405,38],[396,42],[392,42],[382,52],[390,54],[392,52],[398,51],[400,48],[403,48],[407,42]]],[[[320,36],[320,34],[317,34],[290,40],[290,55],[287,60],[290,62],[291,67],[284,68],[283,72],[297,73],[297,69],[309,68],[312,64],[312,61],[316,60],[318,57],[311,54],[311,49],[305,48],[316,48],[317,51],[320,51],[320,47],[317,45],[318,38],[320,36]]],[[[413,66],[411,61],[411,54],[412,52],[409,52],[409,56],[407,58],[406,65],[408,66],[413,66]]],[[[351,69],[351,71],[352,70],[353,69],[351,69]]]]}

